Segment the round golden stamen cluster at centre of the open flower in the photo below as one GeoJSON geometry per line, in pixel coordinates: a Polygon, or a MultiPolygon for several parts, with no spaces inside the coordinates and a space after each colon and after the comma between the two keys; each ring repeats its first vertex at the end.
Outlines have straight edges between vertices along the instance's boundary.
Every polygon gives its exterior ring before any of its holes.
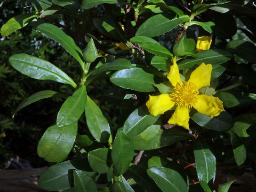
{"type": "Polygon", "coordinates": [[[170,97],[178,106],[191,108],[197,102],[198,93],[195,84],[185,81],[184,83],[177,83],[170,97]]]}

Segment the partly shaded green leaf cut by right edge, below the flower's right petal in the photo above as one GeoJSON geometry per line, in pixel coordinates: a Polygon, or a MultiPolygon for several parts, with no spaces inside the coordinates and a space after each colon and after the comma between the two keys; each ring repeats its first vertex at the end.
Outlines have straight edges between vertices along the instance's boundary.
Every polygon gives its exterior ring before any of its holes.
{"type": "Polygon", "coordinates": [[[256,113],[242,114],[234,118],[234,126],[231,130],[239,137],[249,137],[246,130],[256,123],[256,113]]]}

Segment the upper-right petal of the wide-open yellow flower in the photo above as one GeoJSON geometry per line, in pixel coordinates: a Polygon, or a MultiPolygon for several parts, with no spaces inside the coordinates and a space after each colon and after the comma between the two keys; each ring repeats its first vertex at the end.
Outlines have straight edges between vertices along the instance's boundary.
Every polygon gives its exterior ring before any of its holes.
{"type": "Polygon", "coordinates": [[[190,75],[189,82],[196,85],[198,89],[210,86],[212,64],[201,63],[190,75]]]}

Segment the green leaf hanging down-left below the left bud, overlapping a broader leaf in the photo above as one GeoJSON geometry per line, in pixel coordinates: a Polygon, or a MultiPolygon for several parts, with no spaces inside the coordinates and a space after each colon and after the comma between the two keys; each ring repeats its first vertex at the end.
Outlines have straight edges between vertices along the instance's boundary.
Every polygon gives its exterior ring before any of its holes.
{"type": "Polygon", "coordinates": [[[86,87],[82,85],[62,104],[57,115],[57,126],[67,126],[77,121],[84,112],[86,99],[86,87]]]}

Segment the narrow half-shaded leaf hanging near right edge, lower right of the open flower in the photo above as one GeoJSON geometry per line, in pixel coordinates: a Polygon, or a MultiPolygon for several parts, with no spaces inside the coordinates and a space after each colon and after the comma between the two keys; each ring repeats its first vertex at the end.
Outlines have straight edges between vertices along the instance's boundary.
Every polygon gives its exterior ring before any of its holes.
{"type": "Polygon", "coordinates": [[[232,130],[228,130],[227,133],[230,135],[231,144],[234,152],[234,157],[236,164],[238,166],[242,165],[246,160],[246,149],[242,142],[242,140],[232,132],[232,130]]]}

